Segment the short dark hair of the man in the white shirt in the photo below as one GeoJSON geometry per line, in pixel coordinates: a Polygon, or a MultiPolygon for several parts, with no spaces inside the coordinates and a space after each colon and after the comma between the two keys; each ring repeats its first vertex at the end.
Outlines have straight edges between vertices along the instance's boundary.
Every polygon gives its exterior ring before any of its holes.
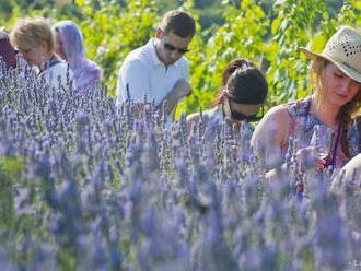
{"type": "Polygon", "coordinates": [[[196,22],[187,12],[172,10],[163,16],[161,28],[165,35],[172,32],[183,38],[193,37],[196,34],[196,22]]]}

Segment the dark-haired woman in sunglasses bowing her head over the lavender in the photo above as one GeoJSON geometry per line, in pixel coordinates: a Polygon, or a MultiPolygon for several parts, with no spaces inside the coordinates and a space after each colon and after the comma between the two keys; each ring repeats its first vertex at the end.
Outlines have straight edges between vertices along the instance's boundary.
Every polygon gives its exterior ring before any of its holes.
{"type": "MultiPolygon", "coordinates": [[[[235,59],[229,62],[223,71],[222,91],[212,103],[212,108],[202,115],[209,119],[240,125],[246,122],[246,128],[252,136],[253,121],[261,119],[263,105],[268,93],[268,84],[260,70],[251,61],[235,59]],[[261,109],[261,110],[260,110],[261,109]]],[[[187,117],[187,129],[199,122],[199,113],[187,117]]]]}

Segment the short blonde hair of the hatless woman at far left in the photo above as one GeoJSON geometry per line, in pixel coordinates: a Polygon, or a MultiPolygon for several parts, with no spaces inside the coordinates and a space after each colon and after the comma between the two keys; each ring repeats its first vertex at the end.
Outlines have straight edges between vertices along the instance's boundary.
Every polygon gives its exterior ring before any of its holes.
{"type": "Polygon", "coordinates": [[[20,51],[26,51],[46,43],[49,52],[54,49],[50,23],[44,17],[19,19],[10,35],[10,43],[20,51]]]}

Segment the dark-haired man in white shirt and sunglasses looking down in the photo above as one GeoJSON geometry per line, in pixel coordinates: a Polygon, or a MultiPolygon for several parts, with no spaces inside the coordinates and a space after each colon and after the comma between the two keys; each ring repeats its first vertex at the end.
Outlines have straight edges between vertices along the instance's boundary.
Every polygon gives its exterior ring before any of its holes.
{"type": "Polygon", "coordinates": [[[125,59],[118,75],[117,104],[130,99],[136,114],[142,108],[144,97],[161,108],[165,102],[168,120],[180,98],[190,95],[187,82],[189,63],[183,57],[196,33],[195,20],[184,11],[168,11],[156,37],[131,51],[125,59]]]}

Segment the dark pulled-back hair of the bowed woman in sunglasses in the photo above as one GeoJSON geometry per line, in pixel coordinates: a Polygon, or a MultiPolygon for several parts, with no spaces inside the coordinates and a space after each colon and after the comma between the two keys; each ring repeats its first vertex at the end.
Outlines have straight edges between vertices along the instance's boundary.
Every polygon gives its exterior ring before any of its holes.
{"type": "Polygon", "coordinates": [[[261,71],[251,61],[235,59],[223,71],[223,86],[229,96],[242,104],[263,104],[268,84],[261,71]]]}

